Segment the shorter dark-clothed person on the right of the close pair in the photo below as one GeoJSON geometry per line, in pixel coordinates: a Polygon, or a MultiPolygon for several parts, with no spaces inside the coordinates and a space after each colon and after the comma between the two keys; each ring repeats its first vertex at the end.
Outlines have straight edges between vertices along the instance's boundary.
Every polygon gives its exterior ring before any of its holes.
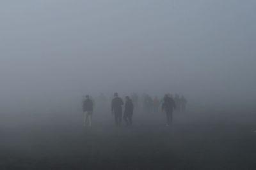
{"type": "Polygon", "coordinates": [[[127,126],[132,125],[133,103],[129,96],[125,97],[124,121],[127,126]]]}

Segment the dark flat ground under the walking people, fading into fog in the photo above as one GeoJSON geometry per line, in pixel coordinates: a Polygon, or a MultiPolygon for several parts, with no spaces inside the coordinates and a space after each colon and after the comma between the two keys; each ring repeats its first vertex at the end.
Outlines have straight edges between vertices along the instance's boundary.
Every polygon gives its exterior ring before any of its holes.
{"type": "Polygon", "coordinates": [[[97,113],[93,129],[81,113],[1,115],[0,169],[256,169],[253,111],[138,115],[120,129],[97,113]]]}

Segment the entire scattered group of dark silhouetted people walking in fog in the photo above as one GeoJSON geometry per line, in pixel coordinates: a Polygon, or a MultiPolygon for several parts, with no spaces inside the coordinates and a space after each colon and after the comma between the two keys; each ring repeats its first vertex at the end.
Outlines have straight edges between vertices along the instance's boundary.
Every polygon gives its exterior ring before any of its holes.
{"type": "MultiPolygon", "coordinates": [[[[122,120],[127,126],[132,125],[132,115],[134,112],[134,105],[138,108],[138,95],[132,94],[131,97],[125,97],[125,103],[118,93],[114,94],[114,98],[111,101],[111,112],[115,117],[116,127],[120,127],[122,120]],[[124,105],[124,114],[123,114],[124,105]]],[[[166,113],[166,126],[172,124],[173,110],[184,111],[186,108],[186,99],[184,96],[179,97],[178,94],[173,97],[171,94],[165,94],[163,99],[159,100],[157,97],[152,99],[147,94],[143,95],[143,111],[145,112],[158,112],[159,106],[162,111],[166,113]]],[[[93,99],[86,95],[83,101],[83,113],[84,113],[84,127],[92,127],[92,115],[93,115],[93,99]]]]}

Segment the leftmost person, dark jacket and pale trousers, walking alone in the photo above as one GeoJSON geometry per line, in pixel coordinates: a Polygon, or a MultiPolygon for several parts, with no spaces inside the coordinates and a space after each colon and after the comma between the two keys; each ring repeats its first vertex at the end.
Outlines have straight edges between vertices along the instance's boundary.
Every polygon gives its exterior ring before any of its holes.
{"type": "Polygon", "coordinates": [[[83,102],[84,127],[92,127],[93,101],[88,95],[83,102]]]}

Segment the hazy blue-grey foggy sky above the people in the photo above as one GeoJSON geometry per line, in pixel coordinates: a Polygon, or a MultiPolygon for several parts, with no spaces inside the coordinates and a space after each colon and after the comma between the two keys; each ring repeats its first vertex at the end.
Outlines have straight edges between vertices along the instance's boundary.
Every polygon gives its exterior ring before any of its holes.
{"type": "Polygon", "coordinates": [[[1,0],[1,102],[114,91],[254,99],[255,7],[253,0],[1,0]]]}

